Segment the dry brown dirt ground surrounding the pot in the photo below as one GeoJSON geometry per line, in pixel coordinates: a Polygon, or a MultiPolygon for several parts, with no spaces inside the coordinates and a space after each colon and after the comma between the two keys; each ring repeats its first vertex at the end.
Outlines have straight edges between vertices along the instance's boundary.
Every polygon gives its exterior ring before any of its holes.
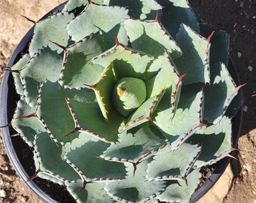
{"type": "MultiPolygon", "coordinates": [[[[6,65],[23,35],[32,26],[21,15],[39,20],[63,0],[0,0],[0,65],[6,65]]],[[[230,53],[239,72],[245,102],[238,160],[233,159],[221,180],[200,203],[255,203],[256,142],[256,1],[190,0],[200,18],[230,33],[230,53]]],[[[42,202],[15,174],[0,136],[0,202],[42,202]]]]}

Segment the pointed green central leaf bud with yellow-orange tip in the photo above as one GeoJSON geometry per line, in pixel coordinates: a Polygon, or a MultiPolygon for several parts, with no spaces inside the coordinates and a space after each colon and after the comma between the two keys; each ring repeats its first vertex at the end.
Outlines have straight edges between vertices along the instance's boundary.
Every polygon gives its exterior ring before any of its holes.
{"type": "Polygon", "coordinates": [[[147,98],[147,87],[143,80],[123,77],[117,80],[112,92],[114,108],[124,117],[142,105],[147,98]]]}

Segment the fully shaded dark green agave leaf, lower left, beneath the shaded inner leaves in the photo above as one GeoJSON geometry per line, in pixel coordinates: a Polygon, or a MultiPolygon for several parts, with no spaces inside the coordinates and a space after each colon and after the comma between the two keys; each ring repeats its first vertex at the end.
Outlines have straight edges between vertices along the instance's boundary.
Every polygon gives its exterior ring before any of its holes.
{"type": "Polygon", "coordinates": [[[87,182],[99,180],[120,180],[125,177],[126,170],[123,163],[108,162],[99,156],[109,147],[104,141],[91,139],[81,147],[66,153],[65,159],[69,165],[77,168],[87,182]],[[85,156],[86,154],[86,156],[85,156]],[[81,162],[81,160],[83,160],[81,162]],[[104,169],[104,170],[102,170],[104,169]]]}

